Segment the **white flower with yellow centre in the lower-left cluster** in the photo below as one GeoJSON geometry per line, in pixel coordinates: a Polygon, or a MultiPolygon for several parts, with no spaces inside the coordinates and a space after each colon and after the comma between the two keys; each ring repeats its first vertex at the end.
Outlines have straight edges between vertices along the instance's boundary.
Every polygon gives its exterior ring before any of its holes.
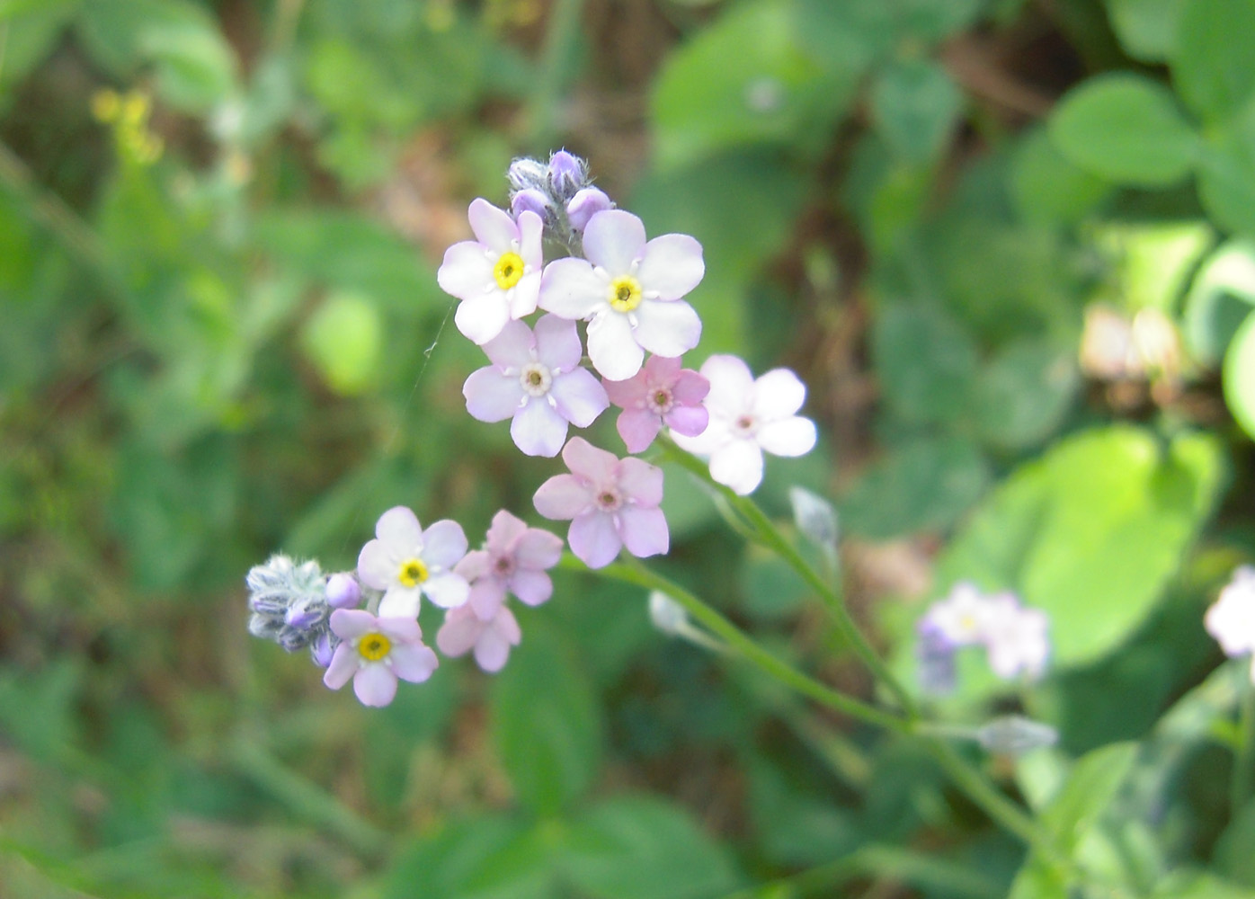
{"type": "Polygon", "coordinates": [[[453,571],[466,552],[462,525],[443,520],[424,531],[414,512],[395,506],[379,516],[375,539],[361,547],[358,576],[384,590],[382,616],[415,618],[424,594],[446,609],[467,601],[471,585],[453,571]]]}

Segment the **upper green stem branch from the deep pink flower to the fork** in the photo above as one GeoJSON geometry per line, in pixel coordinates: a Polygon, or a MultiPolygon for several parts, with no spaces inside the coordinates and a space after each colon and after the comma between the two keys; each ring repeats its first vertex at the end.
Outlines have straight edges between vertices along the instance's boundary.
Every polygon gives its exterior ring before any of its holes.
{"type": "Polygon", "coordinates": [[[881,659],[880,654],[858,629],[858,625],[850,615],[850,609],[846,608],[845,600],[833,586],[832,581],[814,570],[814,568],[802,556],[801,552],[798,552],[797,547],[781,532],[781,530],[772,522],[771,519],[767,517],[763,510],[761,510],[753,500],[745,496],[739,496],[724,485],[714,481],[710,477],[710,471],[702,460],[689,452],[685,452],[684,450],[680,450],[680,447],[665,436],[660,438],[660,443],[669,458],[718,491],[723,496],[724,501],[728,502],[738,512],[738,515],[748,522],[763,545],[773,550],[781,556],[781,559],[788,563],[793,570],[796,570],[811,586],[811,589],[820,594],[823,599],[825,606],[832,615],[841,637],[855,650],[855,654],[867,667],[867,670],[870,670],[877,681],[889,688],[889,691],[894,694],[894,698],[897,701],[897,704],[901,706],[909,718],[917,717],[914,699],[911,699],[906,689],[897,682],[897,678],[894,677],[889,665],[885,664],[885,660],[881,659]]]}

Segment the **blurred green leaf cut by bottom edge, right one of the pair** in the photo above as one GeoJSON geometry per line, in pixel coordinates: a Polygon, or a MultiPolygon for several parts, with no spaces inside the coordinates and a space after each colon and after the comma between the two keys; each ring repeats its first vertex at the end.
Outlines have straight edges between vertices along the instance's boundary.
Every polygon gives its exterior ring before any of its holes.
{"type": "Polygon", "coordinates": [[[653,796],[611,799],[581,816],[562,868],[594,899],[703,899],[742,884],[723,846],[653,796]]]}

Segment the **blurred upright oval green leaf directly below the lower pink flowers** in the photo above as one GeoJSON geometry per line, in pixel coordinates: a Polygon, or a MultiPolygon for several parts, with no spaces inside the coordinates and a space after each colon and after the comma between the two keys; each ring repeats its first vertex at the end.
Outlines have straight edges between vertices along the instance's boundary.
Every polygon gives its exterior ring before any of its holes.
{"type": "Polygon", "coordinates": [[[492,691],[501,760],[532,810],[552,815],[601,770],[601,716],[587,677],[555,635],[528,629],[492,691]]]}

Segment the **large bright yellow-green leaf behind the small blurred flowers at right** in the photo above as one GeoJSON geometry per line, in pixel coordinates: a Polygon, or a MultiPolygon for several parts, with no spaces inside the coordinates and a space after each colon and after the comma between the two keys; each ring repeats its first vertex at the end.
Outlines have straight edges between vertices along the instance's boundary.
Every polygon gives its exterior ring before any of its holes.
{"type": "Polygon", "coordinates": [[[1224,476],[1204,434],[1167,446],[1123,426],[1077,434],[998,488],[940,557],[937,588],[1014,590],[1050,615],[1057,665],[1099,658],[1158,600],[1224,476]]]}

